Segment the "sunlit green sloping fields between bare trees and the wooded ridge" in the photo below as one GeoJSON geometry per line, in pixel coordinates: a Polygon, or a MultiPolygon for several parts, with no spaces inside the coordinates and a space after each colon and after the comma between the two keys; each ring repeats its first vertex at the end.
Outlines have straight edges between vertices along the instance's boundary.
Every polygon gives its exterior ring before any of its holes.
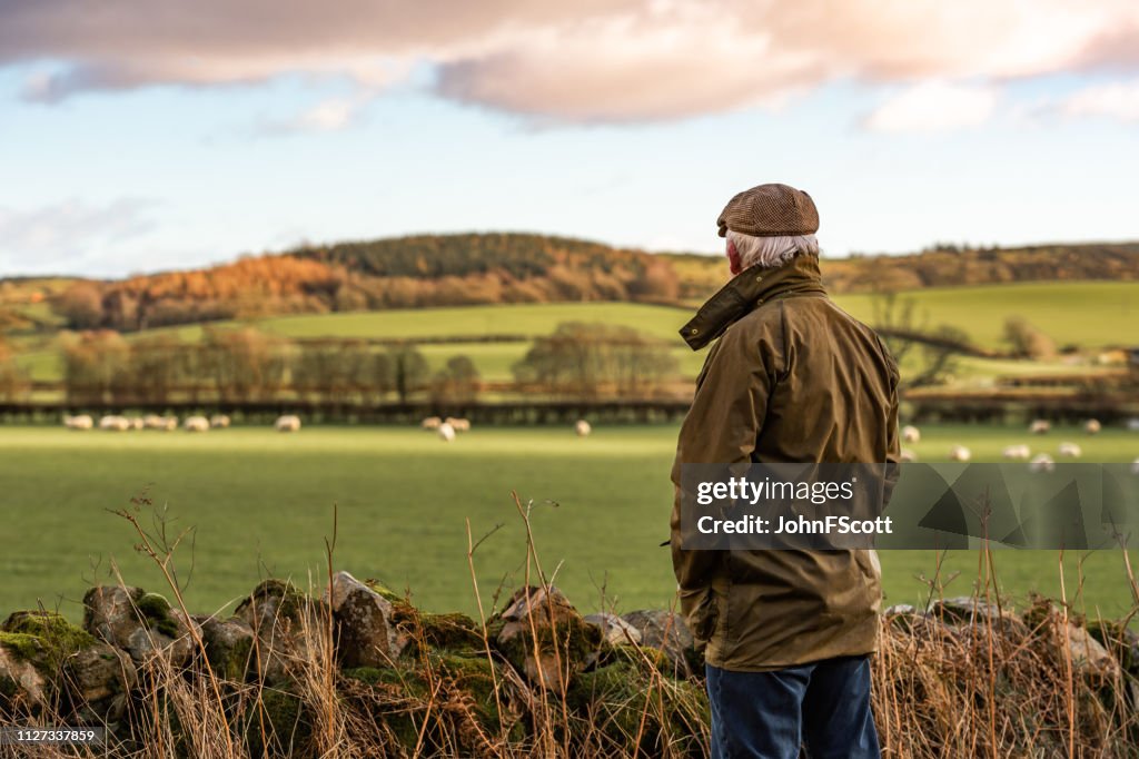
{"type": "MultiPolygon", "coordinates": [[[[900,300],[916,299],[915,317],[924,328],[952,325],[964,329],[978,345],[1005,348],[1001,333],[1009,316],[1021,316],[1042,329],[1057,345],[1083,348],[1131,344],[1139,334],[1139,283],[1024,283],[984,287],[942,287],[901,293],[900,300]]],[[[869,295],[838,296],[838,304],[863,321],[874,321],[869,295]]],[[[441,309],[327,313],[274,317],[256,320],[261,329],[285,337],[416,338],[439,336],[524,335],[551,333],[563,321],[601,321],[624,325],[661,340],[673,341],[673,354],[681,373],[695,376],[704,353],[694,353],[677,332],[691,316],[689,310],[639,303],[542,303],[475,305],[441,309]]],[[[174,328],[183,340],[197,340],[200,326],[174,328]]],[[[489,381],[511,377],[510,367],[526,352],[528,343],[460,343],[424,345],[421,351],[433,368],[465,353],[474,359],[489,381]]],[[[51,381],[62,368],[54,350],[28,350],[21,364],[34,379],[51,381]]],[[[910,365],[913,370],[917,352],[910,365]]],[[[1059,362],[985,360],[964,358],[960,378],[994,377],[1039,372],[1085,370],[1059,362]]]]}

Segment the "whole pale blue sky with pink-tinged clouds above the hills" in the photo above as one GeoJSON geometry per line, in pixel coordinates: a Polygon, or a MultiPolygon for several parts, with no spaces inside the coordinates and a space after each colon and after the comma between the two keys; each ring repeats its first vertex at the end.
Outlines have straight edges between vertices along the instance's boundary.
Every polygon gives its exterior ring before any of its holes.
{"type": "Polygon", "coordinates": [[[1134,0],[0,0],[0,277],[536,231],[1139,239],[1134,0]]]}

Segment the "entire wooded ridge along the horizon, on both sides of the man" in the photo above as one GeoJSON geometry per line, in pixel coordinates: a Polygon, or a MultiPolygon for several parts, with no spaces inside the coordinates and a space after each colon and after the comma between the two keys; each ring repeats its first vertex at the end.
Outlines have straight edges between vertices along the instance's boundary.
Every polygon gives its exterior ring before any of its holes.
{"type": "MultiPolygon", "coordinates": [[[[941,247],[827,259],[831,292],[1021,281],[1139,280],[1139,243],[941,247]]],[[[501,303],[691,304],[721,286],[718,256],[650,254],[525,234],[420,235],[305,246],[121,280],[0,280],[0,332],[154,327],[286,315],[501,303]]]]}

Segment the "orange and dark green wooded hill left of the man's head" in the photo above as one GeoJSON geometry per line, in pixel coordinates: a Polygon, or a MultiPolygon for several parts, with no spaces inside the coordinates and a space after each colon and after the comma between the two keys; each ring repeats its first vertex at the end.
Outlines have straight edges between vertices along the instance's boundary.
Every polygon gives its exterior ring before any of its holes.
{"type": "Polygon", "coordinates": [[[565,301],[674,302],[670,262],[540,235],[419,236],[244,258],[194,271],[79,280],[52,300],[72,329],[288,313],[565,301]]]}

